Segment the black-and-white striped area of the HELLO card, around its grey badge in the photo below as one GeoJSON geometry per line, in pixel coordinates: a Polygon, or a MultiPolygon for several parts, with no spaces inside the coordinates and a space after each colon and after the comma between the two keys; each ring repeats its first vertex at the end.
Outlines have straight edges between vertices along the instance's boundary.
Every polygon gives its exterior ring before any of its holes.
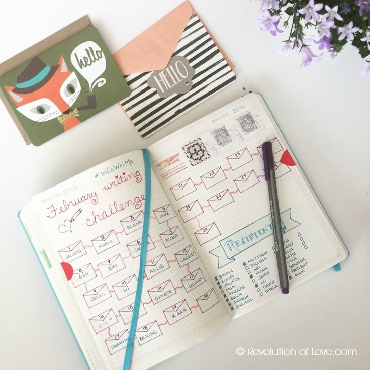
{"type": "Polygon", "coordinates": [[[186,94],[161,98],[148,86],[151,72],[124,76],[132,93],[121,105],[140,135],[148,137],[235,81],[235,74],[197,15],[190,18],[172,57],[180,55],[195,69],[186,94]]]}

